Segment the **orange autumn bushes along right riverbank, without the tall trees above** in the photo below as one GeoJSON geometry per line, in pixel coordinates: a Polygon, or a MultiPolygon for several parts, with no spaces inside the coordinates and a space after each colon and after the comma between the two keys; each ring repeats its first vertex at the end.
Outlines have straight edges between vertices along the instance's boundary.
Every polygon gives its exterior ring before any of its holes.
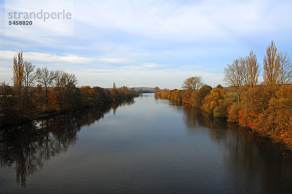
{"type": "Polygon", "coordinates": [[[259,136],[280,143],[292,150],[292,86],[258,85],[242,88],[237,93],[222,86],[204,85],[197,91],[163,90],[156,92],[163,99],[182,101],[215,117],[249,127],[259,136]]]}

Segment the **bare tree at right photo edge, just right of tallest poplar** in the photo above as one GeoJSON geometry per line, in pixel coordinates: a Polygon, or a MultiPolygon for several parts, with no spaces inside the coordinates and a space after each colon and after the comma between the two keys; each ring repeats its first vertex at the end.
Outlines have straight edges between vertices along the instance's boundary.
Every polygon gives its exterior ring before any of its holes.
{"type": "Polygon", "coordinates": [[[291,83],[292,81],[292,63],[287,52],[279,53],[279,78],[280,84],[291,83]]]}

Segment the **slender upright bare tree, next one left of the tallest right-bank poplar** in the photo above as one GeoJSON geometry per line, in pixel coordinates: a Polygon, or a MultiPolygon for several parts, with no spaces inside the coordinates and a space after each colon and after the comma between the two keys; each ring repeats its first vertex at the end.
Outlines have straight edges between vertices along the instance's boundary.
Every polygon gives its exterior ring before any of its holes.
{"type": "Polygon", "coordinates": [[[258,79],[259,64],[257,63],[256,53],[250,51],[250,55],[247,57],[247,67],[249,72],[248,85],[255,87],[258,79]]]}

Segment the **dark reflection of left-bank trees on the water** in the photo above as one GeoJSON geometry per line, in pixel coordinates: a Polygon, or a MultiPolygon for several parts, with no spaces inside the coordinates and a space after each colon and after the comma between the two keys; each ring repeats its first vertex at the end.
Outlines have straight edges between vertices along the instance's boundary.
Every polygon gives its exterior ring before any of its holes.
{"type": "Polygon", "coordinates": [[[48,116],[13,128],[0,129],[0,166],[16,168],[16,181],[26,187],[27,175],[44,165],[45,160],[66,152],[76,143],[77,132],[105,114],[135,101],[81,109],[57,116],[48,116]]]}

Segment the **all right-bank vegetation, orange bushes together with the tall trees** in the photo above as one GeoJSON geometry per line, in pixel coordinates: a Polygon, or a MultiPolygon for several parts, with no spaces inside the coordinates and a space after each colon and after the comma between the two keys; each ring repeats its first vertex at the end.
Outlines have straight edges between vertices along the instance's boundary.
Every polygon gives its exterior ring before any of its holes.
{"type": "Polygon", "coordinates": [[[292,63],[287,52],[277,52],[273,40],[263,60],[264,82],[257,84],[258,75],[259,63],[251,51],[224,68],[227,88],[212,88],[197,76],[185,79],[183,90],[156,87],[155,95],[247,126],[292,151],[292,63]]]}

